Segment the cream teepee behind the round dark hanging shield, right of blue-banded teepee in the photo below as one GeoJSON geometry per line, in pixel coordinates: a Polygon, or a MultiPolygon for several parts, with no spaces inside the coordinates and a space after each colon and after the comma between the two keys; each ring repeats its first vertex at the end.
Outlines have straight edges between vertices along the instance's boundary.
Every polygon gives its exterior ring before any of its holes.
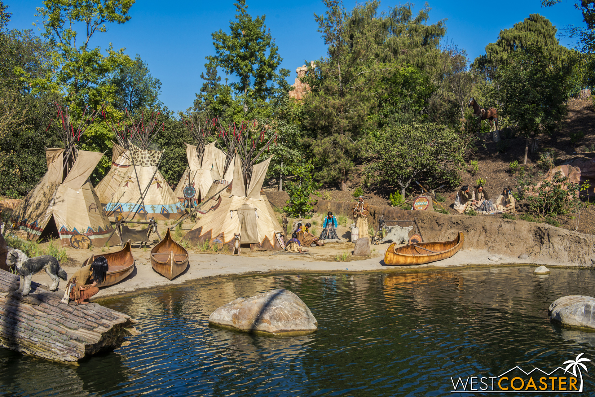
{"type": "MultiPolygon", "coordinates": [[[[190,197],[184,195],[184,189],[192,187],[195,192],[193,195],[194,202],[189,203],[189,207],[195,207],[203,198],[207,197],[206,194],[214,180],[213,155],[215,142],[206,143],[206,138],[211,135],[210,128],[201,128],[200,123],[196,127],[193,122],[190,122],[190,126],[188,123],[184,123],[184,125],[186,125],[186,128],[195,137],[196,145],[184,143],[186,145],[188,166],[184,170],[176,186],[176,190],[174,190],[174,195],[181,203],[184,203],[184,201],[187,202],[190,197]]],[[[221,152],[221,150],[219,151],[221,152]]]]}

